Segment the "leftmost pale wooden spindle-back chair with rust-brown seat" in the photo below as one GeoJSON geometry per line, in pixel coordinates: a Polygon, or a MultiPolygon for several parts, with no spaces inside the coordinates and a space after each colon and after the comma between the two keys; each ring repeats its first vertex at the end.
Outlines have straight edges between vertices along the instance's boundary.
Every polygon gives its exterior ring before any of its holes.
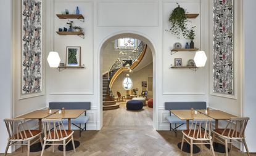
{"type": "Polygon", "coordinates": [[[6,123],[6,128],[9,135],[6,151],[4,152],[5,156],[7,155],[9,146],[11,145],[14,145],[14,146],[20,145],[22,152],[23,152],[23,146],[27,145],[28,146],[27,155],[30,155],[31,144],[34,144],[35,142],[40,140],[41,145],[43,146],[41,131],[29,130],[27,127],[27,123],[25,122],[25,119],[4,119],[4,122],[6,123]],[[36,137],[38,137],[38,139],[31,142],[36,137]]]}

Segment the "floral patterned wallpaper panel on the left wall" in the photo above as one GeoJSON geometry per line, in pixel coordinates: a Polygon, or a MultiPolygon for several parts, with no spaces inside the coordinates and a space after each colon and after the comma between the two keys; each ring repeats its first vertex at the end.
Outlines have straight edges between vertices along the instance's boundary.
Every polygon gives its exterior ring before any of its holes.
{"type": "Polygon", "coordinates": [[[41,5],[22,1],[22,94],[42,91],[41,5]]]}

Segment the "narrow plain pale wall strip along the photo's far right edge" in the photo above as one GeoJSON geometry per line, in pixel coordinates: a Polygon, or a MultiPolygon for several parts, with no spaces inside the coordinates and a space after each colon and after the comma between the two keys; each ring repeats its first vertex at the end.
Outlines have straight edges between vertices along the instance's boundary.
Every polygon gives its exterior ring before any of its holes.
{"type": "Polygon", "coordinates": [[[255,36],[256,21],[254,16],[254,7],[256,1],[244,1],[244,116],[250,117],[246,130],[246,141],[250,152],[256,152],[255,131],[256,131],[256,107],[255,107],[255,88],[256,73],[255,64],[255,36]]]}

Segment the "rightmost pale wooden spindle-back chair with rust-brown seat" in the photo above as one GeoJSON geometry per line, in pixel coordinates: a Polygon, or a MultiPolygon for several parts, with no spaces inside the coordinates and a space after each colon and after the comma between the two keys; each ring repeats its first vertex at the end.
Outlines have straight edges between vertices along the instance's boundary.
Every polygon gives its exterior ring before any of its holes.
{"type": "Polygon", "coordinates": [[[232,117],[229,119],[225,128],[217,128],[213,130],[213,140],[217,139],[225,144],[226,156],[228,156],[228,144],[230,144],[231,155],[232,143],[234,142],[244,143],[247,155],[250,155],[246,144],[246,136],[244,136],[248,120],[249,117],[232,117]],[[218,138],[218,136],[220,138],[218,138]]]}

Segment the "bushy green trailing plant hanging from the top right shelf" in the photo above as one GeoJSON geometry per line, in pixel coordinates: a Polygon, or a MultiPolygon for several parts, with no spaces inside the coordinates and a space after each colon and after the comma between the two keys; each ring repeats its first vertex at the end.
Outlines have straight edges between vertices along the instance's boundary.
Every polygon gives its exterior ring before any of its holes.
{"type": "Polygon", "coordinates": [[[186,37],[188,33],[187,22],[188,19],[186,17],[186,10],[184,10],[180,5],[177,3],[178,7],[173,9],[169,17],[169,22],[171,23],[170,32],[174,34],[180,39],[180,34],[183,34],[183,37],[186,37]]]}

